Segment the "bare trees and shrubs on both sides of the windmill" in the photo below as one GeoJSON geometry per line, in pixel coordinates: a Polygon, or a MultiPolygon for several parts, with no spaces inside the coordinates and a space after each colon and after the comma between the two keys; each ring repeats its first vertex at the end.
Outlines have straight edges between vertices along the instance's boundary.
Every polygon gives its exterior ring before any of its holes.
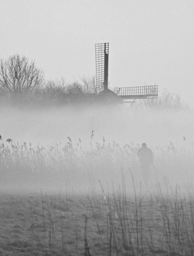
{"type": "MultiPolygon", "coordinates": [[[[159,91],[160,92],[160,91],[159,91]]],[[[64,78],[45,80],[44,72],[26,56],[12,55],[0,61],[0,101],[2,104],[65,104],[91,103],[95,99],[95,76],[83,76],[67,82],[64,78]]],[[[163,91],[158,99],[137,100],[143,108],[187,108],[179,95],[163,91]]]]}

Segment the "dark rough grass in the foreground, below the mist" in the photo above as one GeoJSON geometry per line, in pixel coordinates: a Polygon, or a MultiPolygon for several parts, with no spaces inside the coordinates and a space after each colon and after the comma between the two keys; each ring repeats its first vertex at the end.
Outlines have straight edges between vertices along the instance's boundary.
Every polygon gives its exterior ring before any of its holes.
{"type": "Polygon", "coordinates": [[[0,254],[193,255],[192,187],[168,193],[1,193],[0,254]]]}

